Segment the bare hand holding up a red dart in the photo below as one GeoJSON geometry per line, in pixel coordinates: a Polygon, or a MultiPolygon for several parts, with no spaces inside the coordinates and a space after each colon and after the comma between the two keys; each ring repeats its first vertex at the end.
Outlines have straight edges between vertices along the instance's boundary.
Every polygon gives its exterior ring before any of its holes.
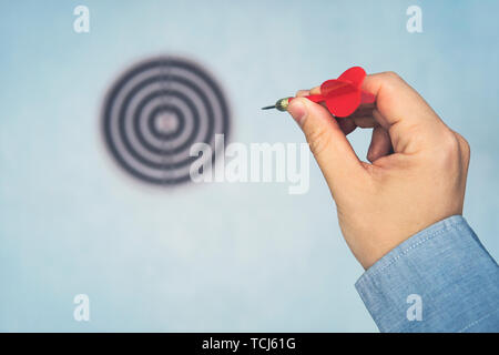
{"type": "MultiPolygon", "coordinates": [[[[288,112],[304,131],[336,202],[339,226],[354,255],[368,268],[391,248],[448,216],[462,213],[469,145],[403,79],[366,77],[375,105],[334,119],[299,98],[288,112]],[[373,128],[361,162],[346,134],[373,128]]],[[[320,93],[319,88],[298,97],[320,93]]]]}

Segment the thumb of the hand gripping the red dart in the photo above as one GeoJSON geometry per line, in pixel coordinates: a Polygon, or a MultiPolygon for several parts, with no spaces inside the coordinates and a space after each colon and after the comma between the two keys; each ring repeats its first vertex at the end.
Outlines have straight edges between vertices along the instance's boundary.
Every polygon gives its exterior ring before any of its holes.
{"type": "Polygon", "coordinates": [[[287,111],[305,133],[334,196],[366,173],[337,121],[323,105],[296,98],[287,111]]]}

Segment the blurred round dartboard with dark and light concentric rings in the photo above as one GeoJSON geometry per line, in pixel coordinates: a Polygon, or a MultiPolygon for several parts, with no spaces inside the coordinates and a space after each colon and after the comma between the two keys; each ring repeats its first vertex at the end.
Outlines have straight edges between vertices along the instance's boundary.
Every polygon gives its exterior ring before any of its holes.
{"type": "Polygon", "coordinates": [[[220,85],[204,69],[161,57],[118,79],[102,119],[105,143],[123,169],[146,182],[177,184],[190,180],[195,160],[214,162],[215,134],[227,138],[230,112],[220,85]],[[191,156],[197,142],[208,144],[212,155],[191,156]]]}

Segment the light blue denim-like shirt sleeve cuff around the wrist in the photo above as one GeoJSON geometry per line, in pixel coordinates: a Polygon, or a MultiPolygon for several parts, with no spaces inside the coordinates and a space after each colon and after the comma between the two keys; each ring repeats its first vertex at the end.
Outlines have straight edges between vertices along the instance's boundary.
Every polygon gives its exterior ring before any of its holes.
{"type": "Polygon", "coordinates": [[[499,267],[460,215],[413,235],[355,286],[381,332],[499,332],[499,267]]]}

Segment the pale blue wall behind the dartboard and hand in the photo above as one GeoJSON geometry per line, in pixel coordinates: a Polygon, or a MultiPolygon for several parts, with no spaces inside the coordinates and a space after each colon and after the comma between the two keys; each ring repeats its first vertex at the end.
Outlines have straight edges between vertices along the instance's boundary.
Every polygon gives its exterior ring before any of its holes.
{"type": "MultiPolygon", "coordinates": [[[[499,257],[497,1],[0,2],[0,331],[358,331],[354,283],[315,162],[283,184],[161,190],[101,142],[102,99],[124,68],[190,57],[222,83],[240,142],[303,142],[259,111],[343,70],[397,71],[471,144],[465,216],[499,257]],[[91,32],[72,14],[90,8],[91,32]],[[422,9],[422,33],[406,9],[422,9]],[[90,297],[91,321],[73,320],[90,297]]],[[[369,132],[355,132],[365,156],[369,132]]]]}

